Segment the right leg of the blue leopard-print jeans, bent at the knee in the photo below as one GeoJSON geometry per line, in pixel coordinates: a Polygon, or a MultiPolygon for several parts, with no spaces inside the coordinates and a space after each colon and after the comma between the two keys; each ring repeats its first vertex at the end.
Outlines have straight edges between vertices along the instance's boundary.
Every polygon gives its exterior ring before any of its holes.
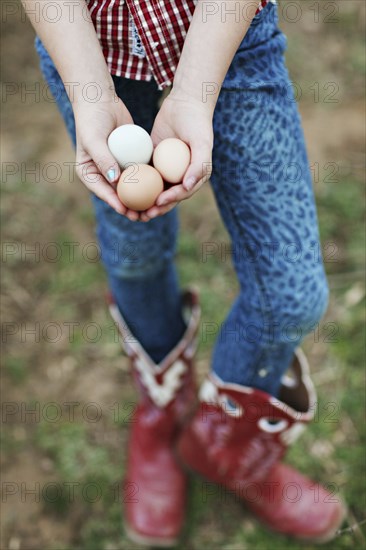
{"type": "Polygon", "coordinates": [[[213,174],[240,294],[213,370],[277,394],[293,351],[328,302],[301,120],[284,64],[286,37],[267,6],[225,78],[214,117],[213,174]]]}

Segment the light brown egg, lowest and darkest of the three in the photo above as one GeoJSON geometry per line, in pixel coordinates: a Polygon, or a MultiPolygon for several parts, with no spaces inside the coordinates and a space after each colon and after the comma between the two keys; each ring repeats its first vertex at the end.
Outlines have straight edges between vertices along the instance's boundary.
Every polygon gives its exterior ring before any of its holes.
{"type": "Polygon", "coordinates": [[[146,210],[152,206],[164,189],[163,178],[148,164],[132,164],[117,184],[120,201],[132,210],[146,210]]]}

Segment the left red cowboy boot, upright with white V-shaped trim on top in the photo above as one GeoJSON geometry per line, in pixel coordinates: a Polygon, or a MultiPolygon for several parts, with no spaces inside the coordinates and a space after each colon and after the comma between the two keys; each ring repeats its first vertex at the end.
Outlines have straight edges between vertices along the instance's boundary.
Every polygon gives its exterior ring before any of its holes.
{"type": "Polygon", "coordinates": [[[195,401],[192,358],[200,308],[193,292],[183,298],[190,315],[187,329],[159,365],[132,336],[110,300],[140,394],[131,423],[123,495],[126,532],[139,544],[172,546],[184,520],[186,476],[173,455],[173,442],[195,401]]]}

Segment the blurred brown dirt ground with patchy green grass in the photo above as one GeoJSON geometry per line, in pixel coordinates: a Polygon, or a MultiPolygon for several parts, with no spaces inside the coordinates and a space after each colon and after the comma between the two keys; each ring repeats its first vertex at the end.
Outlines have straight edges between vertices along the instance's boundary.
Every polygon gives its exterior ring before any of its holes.
{"type": "MultiPolygon", "coordinates": [[[[43,87],[33,31],[18,4],[5,4],[0,547],[138,548],[125,537],[119,492],[136,394],[106,311],[91,204],[69,171],[73,151],[43,87]]],[[[330,484],[335,495],[340,491],[349,505],[347,524],[325,548],[361,547],[365,6],[352,0],[281,2],[280,13],[331,289],[325,318],[304,342],[318,413],[288,460],[330,484]]],[[[204,243],[228,245],[209,186],[182,205],[181,226],[182,284],[193,282],[200,290],[203,322],[219,325],[237,283],[220,254],[201,261],[204,243]]],[[[213,338],[204,340],[199,379],[213,344],[213,338]]],[[[190,485],[179,548],[313,548],[266,532],[230,495],[214,488],[206,495],[202,480],[192,478],[190,485]]]]}

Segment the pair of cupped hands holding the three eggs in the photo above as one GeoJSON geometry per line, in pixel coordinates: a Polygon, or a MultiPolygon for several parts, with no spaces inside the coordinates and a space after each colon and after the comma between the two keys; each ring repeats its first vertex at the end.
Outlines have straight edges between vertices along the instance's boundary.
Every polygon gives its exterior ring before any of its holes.
{"type": "Polygon", "coordinates": [[[147,222],[169,212],[178,202],[196,193],[211,175],[212,110],[173,90],[160,108],[151,138],[154,147],[168,137],[181,139],[191,149],[191,163],[182,183],[163,191],[154,206],[144,212],[131,210],[118,198],[116,187],[121,170],[107,145],[108,136],[115,128],[133,124],[128,109],[115,97],[98,104],[77,104],[74,114],[79,178],[91,192],[132,221],[147,222]]]}

